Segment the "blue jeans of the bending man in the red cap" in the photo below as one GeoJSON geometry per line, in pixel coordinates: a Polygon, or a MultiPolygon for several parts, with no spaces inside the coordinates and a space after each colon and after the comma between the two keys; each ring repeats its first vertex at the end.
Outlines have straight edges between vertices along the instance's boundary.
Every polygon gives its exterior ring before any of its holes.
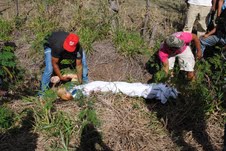
{"type": "MultiPolygon", "coordinates": [[[[41,95],[45,90],[49,89],[49,83],[50,83],[50,78],[53,73],[53,66],[52,66],[52,61],[51,61],[51,48],[47,47],[44,50],[45,52],[45,70],[42,75],[42,80],[41,80],[41,95]]],[[[83,83],[88,83],[88,66],[86,63],[86,55],[85,52],[83,51],[83,57],[82,57],[82,66],[83,66],[83,71],[82,71],[82,81],[83,83]]]]}

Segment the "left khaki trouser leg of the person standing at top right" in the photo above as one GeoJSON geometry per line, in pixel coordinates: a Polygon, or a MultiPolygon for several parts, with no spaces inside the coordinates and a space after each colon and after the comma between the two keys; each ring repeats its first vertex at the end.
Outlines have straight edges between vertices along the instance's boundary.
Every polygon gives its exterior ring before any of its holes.
{"type": "Polygon", "coordinates": [[[192,28],[193,28],[193,25],[194,25],[194,22],[197,18],[198,13],[199,13],[199,6],[189,4],[187,17],[186,17],[185,26],[184,26],[183,31],[192,32],[192,28]]]}

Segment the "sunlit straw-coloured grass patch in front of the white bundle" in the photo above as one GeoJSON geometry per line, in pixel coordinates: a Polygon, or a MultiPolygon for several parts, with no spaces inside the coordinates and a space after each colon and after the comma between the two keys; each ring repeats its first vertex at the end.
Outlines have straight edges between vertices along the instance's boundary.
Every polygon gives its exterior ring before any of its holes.
{"type": "Polygon", "coordinates": [[[102,120],[104,141],[115,151],[120,150],[165,150],[174,148],[160,122],[157,129],[151,128],[151,114],[141,99],[120,95],[98,96],[96,106],[102,120]],[[134,106],[137,106],[134,107],[134,106]]]}

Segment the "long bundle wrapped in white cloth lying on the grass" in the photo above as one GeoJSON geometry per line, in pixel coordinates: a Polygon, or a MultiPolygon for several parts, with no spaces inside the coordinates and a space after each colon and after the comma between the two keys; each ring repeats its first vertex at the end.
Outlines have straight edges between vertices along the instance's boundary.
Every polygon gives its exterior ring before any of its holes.
{"type": "Polygon", "coordinates": [[[169,87],[165,84],[142,84],[142,83],[128,83],[128,82],[104,82],[93,81],[88,84],[74,86],[69,92],[75,97],[76,90],[81,90],[86,96],[92,92],[112,92],[122,93],[131,97],[143,97],[145,99],[157,99],[161,103],[166,103],[172,97],[174,99],[178,96],[178,91],[175,88],[169,87]]]}

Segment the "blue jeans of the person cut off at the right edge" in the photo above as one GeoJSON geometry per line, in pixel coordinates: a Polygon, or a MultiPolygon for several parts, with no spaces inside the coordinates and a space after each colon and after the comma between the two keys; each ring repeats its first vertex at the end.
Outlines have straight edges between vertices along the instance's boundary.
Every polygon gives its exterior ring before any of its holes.
{"type": "Polygon", "coordinates": [[[226,44],[226,38],[222,38],[222,37],[219,37],[217,35],[211,35],[207,38],[201,38],[200,43],[201,43],[201,50],[202,50],[202,54],[203,54],[206,47],[214,46],[217,43],[221,43],[221,44],[225,45],[226,44]]]}

